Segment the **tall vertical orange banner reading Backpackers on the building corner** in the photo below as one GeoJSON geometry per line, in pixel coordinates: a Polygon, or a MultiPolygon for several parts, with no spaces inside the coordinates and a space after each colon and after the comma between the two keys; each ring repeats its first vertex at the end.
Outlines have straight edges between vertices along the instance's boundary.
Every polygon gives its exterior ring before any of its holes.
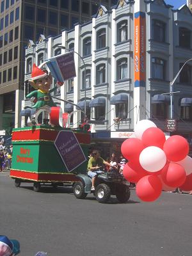
{"type": "Polygon", "coordinates": [[[145,87],[146,24],[145,13],[134,14],[134,87],[145,87]]]}

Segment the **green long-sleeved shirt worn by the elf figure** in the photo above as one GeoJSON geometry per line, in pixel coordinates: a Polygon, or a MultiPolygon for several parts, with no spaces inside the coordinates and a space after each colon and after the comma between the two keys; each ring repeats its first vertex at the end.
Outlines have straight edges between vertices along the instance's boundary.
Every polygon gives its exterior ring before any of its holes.
{"type": "Polygon", "coordinates": [[[48,93],[44,93],[41,90],[36,90],[36,91],[33,91],[33,92],[29,93],[26,96],[26,98],[35,97],[37,99],[37,102],[31,108],[42,108],[45,105],[47,105],[49,107],[56,107],[56,104],[53,102],[52,97],[50,95],[50,93],[54,92],[55,90],[57,90],[57,86],[55,86],[54,88],[49,90],[48,93]],[[42,99],[44,97],[49,97],[48,98],[49,100],[42,99]]]}

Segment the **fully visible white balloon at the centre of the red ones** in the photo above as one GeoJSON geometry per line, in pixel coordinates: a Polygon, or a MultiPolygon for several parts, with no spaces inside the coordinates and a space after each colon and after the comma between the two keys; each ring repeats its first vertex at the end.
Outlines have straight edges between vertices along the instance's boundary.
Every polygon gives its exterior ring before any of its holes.
{"type": "Polygon", "coordinates": [[[166,164],[166,155],[159,147],[147,147],[141,151],[140,164],[148,172],[158,172],[166,164]]]}

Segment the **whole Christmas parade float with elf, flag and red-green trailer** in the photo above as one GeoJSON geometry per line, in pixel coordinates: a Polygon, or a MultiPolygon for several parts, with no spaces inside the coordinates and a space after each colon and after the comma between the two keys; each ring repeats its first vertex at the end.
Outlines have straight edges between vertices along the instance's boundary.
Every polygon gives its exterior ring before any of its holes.
{"type": "Polygon", "coordinates": [[[76,76],[73,54],[70,52],[67,58],[58,56],[54,60],[45,61],[43,65],[33,65],[29,84],[35,91],[26,96],[33,102],[34,114],[28,119],[28,126],[13,129],[12,132],[10,177],[15,179],[16,187],[21,182],[32,182],[35,191],[39,191],[42,185],[55,187],[77,181],[77,173],[86,173],[86,156],[90,144],[90,132],[83,131],[82,125],[77,129],[63,127],[66,125],[63,125],[62,109],[56,106],[51,97],[51,92],[63,85],[63,65],[65,76],[66,72],[70,77],[76,76]],[[49,71],[42,68],[45,64],[49,71]],[[50,70],[58,81],[52,89],[50,70]],[[38,116],[42,112],[44,120],[38,124],[38,116]]]}

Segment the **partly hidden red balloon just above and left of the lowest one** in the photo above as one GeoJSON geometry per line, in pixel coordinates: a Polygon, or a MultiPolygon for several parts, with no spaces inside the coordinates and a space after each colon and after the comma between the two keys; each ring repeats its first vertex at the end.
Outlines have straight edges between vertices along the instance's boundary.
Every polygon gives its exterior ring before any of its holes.
{"type": "Polygon", "coordinates": [[[140,180],[143,176],[147,175],[148,173],[145,172],[145,170],[141,167],[138,168],[136,165],[134,165],[134,168],[132,168],[131,163],[127,163],[124,166],[123,175],[126,180],[129,182],[137,183],[138,180],[140,180]]]}

